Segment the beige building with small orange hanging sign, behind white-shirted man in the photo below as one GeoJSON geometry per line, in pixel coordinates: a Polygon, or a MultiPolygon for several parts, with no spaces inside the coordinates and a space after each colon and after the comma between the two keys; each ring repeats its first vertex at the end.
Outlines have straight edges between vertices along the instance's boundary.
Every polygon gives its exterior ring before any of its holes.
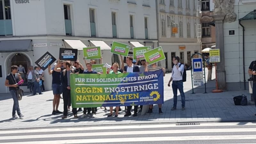
{"type": "Polygon", "coordinates": [[[191,55],[201,51],[197,4],[196,0],[157,0],[158,42],[166,57],[160,63],[167,72],[172,71],[174,56],[190,66],[191,55]]]}

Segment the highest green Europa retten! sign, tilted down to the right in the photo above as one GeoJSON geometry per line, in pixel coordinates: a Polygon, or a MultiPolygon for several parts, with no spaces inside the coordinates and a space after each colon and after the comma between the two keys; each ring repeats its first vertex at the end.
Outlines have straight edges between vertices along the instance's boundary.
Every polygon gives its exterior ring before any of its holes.
{"type": "Polygon", "coordinates": [[[127,56],[130,50],[130,45],[113,41],[110,53],[127,56]]]}

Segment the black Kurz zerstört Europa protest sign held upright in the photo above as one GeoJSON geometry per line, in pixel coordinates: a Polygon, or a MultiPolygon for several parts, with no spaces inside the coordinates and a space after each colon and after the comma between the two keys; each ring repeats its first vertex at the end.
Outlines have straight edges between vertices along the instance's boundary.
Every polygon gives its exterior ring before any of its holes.
{"type": "Polygon", "coordinates": [[[77,60],[77,49],[60,48],[60,60],[76,61],[77,60]]]}

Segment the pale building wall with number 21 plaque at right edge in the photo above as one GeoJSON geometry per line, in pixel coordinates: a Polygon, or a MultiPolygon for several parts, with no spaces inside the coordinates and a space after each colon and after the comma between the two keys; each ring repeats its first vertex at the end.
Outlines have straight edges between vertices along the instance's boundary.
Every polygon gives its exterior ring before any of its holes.
{"type": "Polygon", "coordinates": [[[247,89],[247,71],[256,59],[256,0],[226,0],[222,5],[231,11],[223,23],[226,88],[247,89]]]}

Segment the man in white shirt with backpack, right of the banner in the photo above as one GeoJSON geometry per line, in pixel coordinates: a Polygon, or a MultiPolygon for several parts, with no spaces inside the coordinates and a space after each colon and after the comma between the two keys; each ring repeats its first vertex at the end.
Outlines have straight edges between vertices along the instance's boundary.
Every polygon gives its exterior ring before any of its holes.
{"type": "Polygon", "coordinates": [[[180,91],[181,96],[181,103],[182,108],[181,110],[185,110],[185,94],[183,91],[183,81],[182,81],[182,75],[184,72],[184,64],[180,63],[180,58],[178,56],[173,57],[172,62],[174,64],[172,68],[172,77],[168,83],[168,86],[170,86],[170,83],[172,81],[172,91],[173,91],[173,107],[171,110],[176,110],[177,106],[177,92],[178,89],[180,91]]]}

